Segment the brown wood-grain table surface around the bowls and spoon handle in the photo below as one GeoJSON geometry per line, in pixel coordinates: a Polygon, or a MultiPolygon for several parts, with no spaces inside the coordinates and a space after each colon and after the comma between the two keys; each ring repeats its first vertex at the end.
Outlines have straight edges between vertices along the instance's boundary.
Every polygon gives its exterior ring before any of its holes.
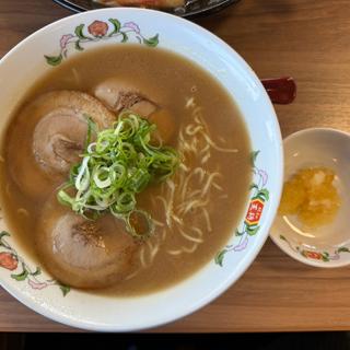
{"type": "MultiPolygon", "coordinates": [[[[50,0],[1,0],[0,56],[69,14],[50,0]]],[[[242,0],[197,23],[235,48],[259,77],[294,77],[296,101],[276,106],[283,137],[314,126],[350,131],[349,0],[242,0]]],[[[304,266],[268,241],[223,295],[152,331],[349,330],[349,268],[304,266]]],[[[0,289],[0,330],[75,329],[44,318],[0,289]]]]}

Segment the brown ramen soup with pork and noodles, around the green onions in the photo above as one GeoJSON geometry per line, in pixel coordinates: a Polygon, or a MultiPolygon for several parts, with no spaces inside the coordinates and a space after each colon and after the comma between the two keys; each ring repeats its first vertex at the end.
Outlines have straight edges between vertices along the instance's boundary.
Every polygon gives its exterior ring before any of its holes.
{"type": "Polygon", "coordinates": [[[149,293],[188,278],[225,245],[248,199],[249,152],[232,97],[201,68],[159,48],[102,47],[52,68],[24,96],[2,144],[3,209],[26,252],[58,280],[71,285],[79,280],[77,287],[114,295],[149,293]],[[100,129],[117,118],[113,94],[120,82],[147,96],[145,104],[137,100],[137,112],[158,125],[161,139],[180,156],[173,176],[137,196],[137,207],[155,229],[136,244],[109,213],[90,222],[57,201],[77,162],[75,143],[60,140],[71,151],[65,161],[45,165],[50,152],[60,155],[50,143],[58,129],[83,142],[86,126],[71,124],[71,113],[96,115],[100,129]]]}

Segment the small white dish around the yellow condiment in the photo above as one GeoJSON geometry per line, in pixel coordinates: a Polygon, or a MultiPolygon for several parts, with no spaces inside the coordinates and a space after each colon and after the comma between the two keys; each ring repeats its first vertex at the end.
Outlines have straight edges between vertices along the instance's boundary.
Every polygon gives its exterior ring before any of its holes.
{"type": "Polygon", "coordinates": [[[278,215],[270,231],[272,241],[292,258],[316,267],[350,264],[350,135],[326,128],[295,132],[284,143],[284,182],[305,167],[325,166],[336,174],[341,199],[335,220],[308,232],[296,218],[278,215]]]}

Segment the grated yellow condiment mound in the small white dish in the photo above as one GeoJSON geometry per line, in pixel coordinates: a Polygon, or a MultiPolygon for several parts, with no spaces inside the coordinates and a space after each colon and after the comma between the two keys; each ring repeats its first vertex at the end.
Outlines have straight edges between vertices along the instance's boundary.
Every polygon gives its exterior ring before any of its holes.
{"type": "Polygon", "coordinates": [[[326,167],[299,171],[284,183],[279,214],[296,214],[308,228],[330,223],[340,207],[335,176],[334,171],[326,167]]]}

